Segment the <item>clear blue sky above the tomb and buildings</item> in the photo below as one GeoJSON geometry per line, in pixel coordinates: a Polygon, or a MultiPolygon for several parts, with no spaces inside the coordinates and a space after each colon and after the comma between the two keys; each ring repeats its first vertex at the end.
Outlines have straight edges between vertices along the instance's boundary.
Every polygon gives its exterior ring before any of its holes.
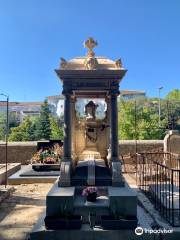
{"type": "Polygon", "coordinates": [[[179,0],[0,0],[0,92],[11,101],[41,101],[61,92],[60,57],[122,58],[121,89],[162,96],[180,88],[179,0]]]}

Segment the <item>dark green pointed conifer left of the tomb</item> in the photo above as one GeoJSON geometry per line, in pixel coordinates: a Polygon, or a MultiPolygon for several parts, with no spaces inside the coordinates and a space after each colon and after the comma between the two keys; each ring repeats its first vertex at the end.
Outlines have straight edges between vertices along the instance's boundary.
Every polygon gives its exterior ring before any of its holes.
{"type": "Polygon", "coordinates": [[[51,126],[50,126],[50,109],[47,100],[41,106],[40,117],[36,123],[36,138],[37,139],[50,139],[51,126]]]}

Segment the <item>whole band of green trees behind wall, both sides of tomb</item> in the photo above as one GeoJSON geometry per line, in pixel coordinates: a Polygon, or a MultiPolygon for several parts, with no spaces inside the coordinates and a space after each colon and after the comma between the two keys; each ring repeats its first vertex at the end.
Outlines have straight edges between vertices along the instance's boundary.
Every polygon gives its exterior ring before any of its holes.
{"type": "MultiPolygon", "coordinates": [[[[180,90],[174,89],[161,99],[161,125],[159,126],[158,98],[121,100],[118,103],[120,139],[163,139],[167,129],[180,130],[180,90]],[[179,101],[178,101],[179,100],[179,101]]],[[[16,115],[9,114],[11,141],[62,139],[63,127],[53,117],[47,101],[41,107],[39,117],[27,117],[18,126],[16,115]]],[[[6,114],[0,113],[0,140],[6,132],[6,114]]]]}

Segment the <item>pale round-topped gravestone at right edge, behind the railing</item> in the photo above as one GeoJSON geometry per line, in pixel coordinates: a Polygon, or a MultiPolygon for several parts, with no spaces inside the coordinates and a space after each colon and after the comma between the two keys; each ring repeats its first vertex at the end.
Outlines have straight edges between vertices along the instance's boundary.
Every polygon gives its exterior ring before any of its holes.
{"type": "Polygon", "coordinates": [[[170,130],[164,138],[164,152],[180,154],[180,134],[177,130],[170,130]]]}

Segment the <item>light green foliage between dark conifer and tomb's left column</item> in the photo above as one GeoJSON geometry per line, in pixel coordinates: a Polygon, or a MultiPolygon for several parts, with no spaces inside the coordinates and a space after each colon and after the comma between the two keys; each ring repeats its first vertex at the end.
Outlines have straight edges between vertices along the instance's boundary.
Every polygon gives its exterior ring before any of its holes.
{"type": "Polygon", "coordinates": [[[51,139],[63,139],[63,129],[58,126],[58,119],[50,117],[51,139]]]}

